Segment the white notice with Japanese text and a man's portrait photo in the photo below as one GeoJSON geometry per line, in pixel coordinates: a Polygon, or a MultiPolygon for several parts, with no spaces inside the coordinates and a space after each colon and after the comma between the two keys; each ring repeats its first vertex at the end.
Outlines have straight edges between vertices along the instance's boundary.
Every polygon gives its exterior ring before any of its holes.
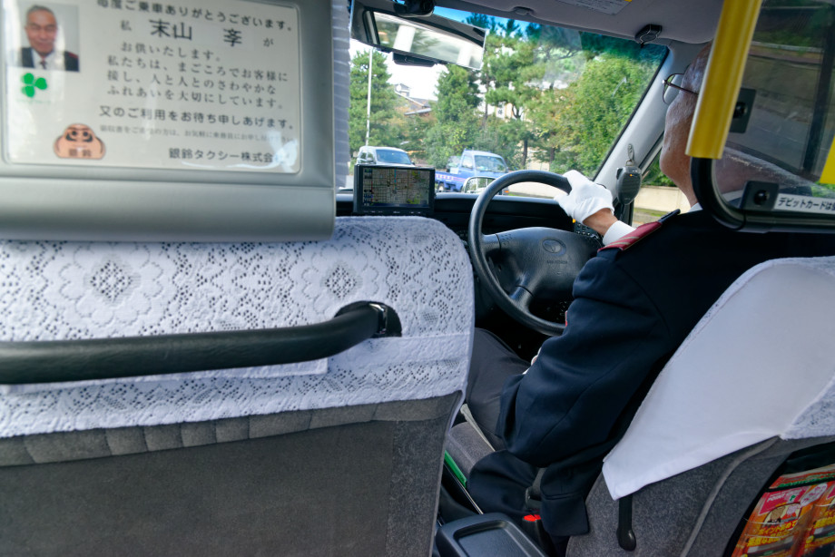
{"type": "Polygon", "coordinates": [[[298,8],[2,3],[8,161],[300,171],[298,8]]]}

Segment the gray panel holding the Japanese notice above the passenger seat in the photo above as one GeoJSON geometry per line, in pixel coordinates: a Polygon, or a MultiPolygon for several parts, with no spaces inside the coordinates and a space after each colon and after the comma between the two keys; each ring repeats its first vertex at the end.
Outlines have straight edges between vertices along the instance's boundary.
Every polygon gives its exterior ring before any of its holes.
{"type": "MultiPolygon", "coordinates": [[[[74,9],[78,14],[76,20],[80,26],[80,31],[76,30],[76,35],[81,36],[76,37],[76,40],[81,45],[81,70],[80,72],[64,72],[34,69],[27,73],[25,69],[20,67],[22,63],[17,57],[21,51],[17,48],[17,45],[25,46],[27,44],[26,35],[23,33],[20,24],[26,17],[24,8],[20,7],[20,3],[3,3],[4,9],[0,12],[0,15],[2,15],[2,21],[0,21],[2,27],[0,28],[4,29],[5,33],[3,35],[5,35],[5,38],[0,38],[0,46],[3,49],[2,57],[0,57],[0,69],[2,69],[0,71],[0,91],[3,92],[2,112],[0,113],[3,114],[5,122],[2,124],[3,133],[0,136],[0,151],[2,151],[0,199],[3,200],[0,203],[0,237],[4,239],[115,239],[138,241],[280,241],[329,237],[333,229],[335,214],[333,36],[334,22],[339,22],[339,18],[331,18],[331,3],[329,0],[305,0],[296,4],[269,0],[263,2],[244,0],[222,2],[221,0],[213,0],[209,4],[216,5],[215,8],[220,5],[221,8],[226,9],[224,17],[227,19],[224,24],[218,23],[217,19],[213,19],[211,24],[207,24],[205,16],[208,10],[202,12],[203,18],[199,22],[194,23],[192,19],[196,12],[192,8],[197,10],[212,6],[203,5],[196,0],[185,0],[181,5],[178,5],[178,9],[179,7],[188,8],[186,10],[188,12],[187,16],[168,15],[163,11],[162,14],[151,13],[143,16],[133,23],[133,26],[136,27],[138,24],[147,24],[146,19],[152,21],[154,18],[160,20],[168,18],[171,20],[172,26],[180,24],[193,26],[195,33],[202,28],[210,30],[217,28],[220,33],[221,30],[225,32],[227,28],[235,27],[235,25],[229,23],[232,14],[240,13],[242,18],[244,14],[249,12],[253,15],[269,15],[270,13],[286,14],[288,8],[295,10],[295,14],[298,15],[298,29],[293,31],[295,34],[292,36],[295,37],[297,34],[299,41],[300,96],[298,100],[290,99],[289,104],[290,106],[300,106],[301,113],[298,115],[300,130],[284,133],[285,137],[290,135],[291,139],[298,140],[300,147],[298,157],[292,155],[291,158],[294,166],[285,167],[284,171],[264,170],[266,165],[263,164],[258,171],[237,171],[230,170],[230,167],[227,167],[226,170],[202,170],[196,164],[180,164],[178,168],[172,168],[172,161],[162,156],[152,161],[151,157],[142,154],[139,149],[133,159],[135,161],[134,165],[130,161],[130,153],[126,153],[125,149],[119,151],[109,149],[109,147],[103,158],[99,160],[69,161],[59,158],[61,155],[58,153],[58,146],[56,145],[54,147],[54,158],[51,158],[53,142],[57,143],[61,139],[60,132],[54,132],[51,126],[45,131],[37,130],[34,127],[32,132],[32,134],[37,135],[37,141],[43,143],[39,146],[40,154],[30,156],[25,152],[24,156],[21,156],[19,154],[20,150],[15,151],[18,154],[12,154],[14,145],[9,143],[20,143],[21,138],[25,140],[28,136],[10,130],[14,126],[14,122],[12,122],[14,118],[10,115],[14,115],[14,112],[18,111],[20,106],[25,106],[26,110],[31,110],[34,113],[39,110],[39,107],[48,106],[49,102],[63,103],[61,104],[63,108],[60,110],[55,109],[55,105],[49,106],[52,106],[52,109],[57,111],[56,113],[65,117],[60,125],[56,124],[55,126],[55,129],[64,130],[65,124],[71,123],[77,117],[77,114],[71,110],[72,103],[68,104],[67,100],[60,96],[55,97],[57,101],[49,101],[50,97],[46,95],[46,91],[55,95],[57,93],[54,92],[60,91],[62,85],[69,90],[69,84],[71,83],[74,83],[77,90],[79,79],[83,80],[81,83],[89,81],[91,83],[89,94],[97,96],[93,102],[88,100],[86,101],[87,104],[84,105],[88,107],[87,112],[83,113],[89,115],[91,119],[90,127],[105,137],[104,143],[108,146],[118,145],[119,142],[125,141],[123,135],[120,136],[114,131],[101,131],[106,129],[105,126],[99,125],[104,121],[101,118],[97,121],[95,118],[97,114],[94,113],[99,110],[99,103],[108,105],[123,103],[124,106],[128,106],[127,97],[107,96],[106,91],[98,87],[98,84],[104,82],[103,75],[107,71],[107,64],[109,64],[106,62],[108,60],[106,56],[118,54],[119,60],[122,60],[124,53],[100,53],[93,48],[85,48],[84,46],[85,44],[89,46],[88,43],[85,43],[85,41],[90,40],[86,38],[86,31],[90,31],[90,27],[97,23],[95,18],[103,19],[106,16],[113,19],[112,11],[117,5],[121,4],[112,4],[109,5],[107,2],[77,2],[74,6],[55,7],[55,14],[59,17],[59,21],[63,21],[60,18],[64,13],[68,13],[67,10],[74,9]],[[18,6],[16,11],[15,8],[10,7],[13,5],[18,6]],[[93,14],[95,17],[92,19],[87,17],[86,15],[89,14],[93,14]],[[32,75],[33,77],[27,78],[26,75],[32,75]],[[44,80],[46,80],[44,83],[48,82],[49,88],[41,91],[35,87],[32,90],[34,91],[34,97],[31,101],[25,99],[21,101],[17,97],[15,97],[14,103],[10,100],[9,97],[12,95],[19,96],[21,91],[17,83],[19,80],[28,79],[32,81],[32,79],[39,77],[44,77],[44,80]],[[39,100],[42,98],[43,100],[39,100]],[[113,99],[122,100],[117,102],[113,99]],[[25,104],[20,104],[22,102],[25,104]],[[95,111],[93,111],[93,107],[95,107],[95,111]]],[[[128,17],[127,12],[124,14],[123,17],[128,17]]],[[[133,15],[133,17],[135,19],[137,16],[133,15]]],[[[217,10],[213,11],[212,17],[218,17],[217,10]]],[[[254,25],[256,19],[256,17],[251,18],[251,20],[248,20],[248,24],[254,25]]],[[[133,22],[133,20],[131,21],[133,22]]],[[[242,30],[244,36],[246,36],[246,33],[255,33],[254,28],[243,27],[241,20],[236,20],[236,22],[238,23],[237,28],[242,30]]],[[[263,23],[264,20],[259,19],[259,24],[263,23]]],[[[275,25],[278,24],[277,17],[275,25]]],[[[59,23],[60,28],[61,24],[59,23]]],[[[103,33],[106,34],[107,32],[103,33]]],[[[263,33],[263,30],[260,30],[260,33],[263,33]]],[[[68,40],[72,40],[71,32],[67,31],[66,34],[68,40]]],[[[148,44],[154,44],[150,38],[147,38],[147,35],[149,33],[145,31],[142,34],[145,38],[142,40],[148,42],[148,44]]],[[[138,39],[134,38],[132,40],[138,39]]],[[[259,39],[259,41],[261,40],[259,39]]],[[[273,64],[273,66],[283,64],[283,62],[275,62],[276,59],[281,58],[281,56],[275,55],[275,51],[259,50],[260,45],[260,43],[256,43],[251,47],[251,58],[243,58],[243,60],[251,60],[251,62],[239,65],[259,68],[260,65],[272,67],[270,64],[273,64]],[[271,53],[269,61],[265,59],[266,57],[263,54],[260,54],[267,52],[271,53]]],[[[201,56],[211,54],[212,50],[217,51],[214,53],[217,54],[217,57],[211,61],[213,65],[204,62],[200,69],[205,72],[219,71],[219,67],[223,64],[222,54],[218,54],[221,53],[222,46],[220,39],[216,39],[216,44],[197,44],[194,42],[189,44],[189,47],[192,46],[197,48],[188,51],[188,53],[197,52],[198,48],[201,56]]],[[[125,46],[124,48],[130,47],[125,46]]],[[[162,42],[158,48],[162,48],[162,42]]],[[[172,48],[175,49],[173,52],[176,53],[174,43],[172,43],[172,48]]],[[[70,50],[69,47],[67,47],[67,50],[70,50]]],[[[180,52],[183,54],[183,60],[191,60],[191,58],[185,57],[185,54],[187,54],[185,51],[181,50],[180,52]]],[[[232,52],[234,54],[229,54],[230,56],[237,56],[234,59],[241,60],[240,50],[232,52]]],[[[292,52],[283,51],[280,54],[287,57],[296,55],[292,52]]],[[[162,54],[156,55],[159,60],[165,62],[162,54]]],[[[135,64],[137,64],[139,58],[137,52],[134,52],[130,57],[134,72],[138,72],[135,69],[135,64]]],[[[230,60],[232,59],[230,58],[230,60]]],[[[177,63],[185,64],[180,60],[177,60],[177,63]]],[[[294,67],[294,64],[292,63],[290,66],[294,67]]],[[[229,71],[233,64],[228,64],[228,66],[224,68],[224,71],[229,71]]],[[[158,77],[164,80],[165,77],[163,76],[172,76],[176,79],[180,75],[178,71],[182,72],[183,75],[185,74],[185,66],[179,67],[180,69],[177,70],[172,65],[167,71],[160,70],[159,73],[154,74],[154,79],[158,77]]],[[[196,68],[197,66],[193,67],[196,68]]],[[[244,67],[244,70],[246,67],[244,67]]],[[[188,66],[189,73],[192,73],[192,69],[192,66],[188,66]]],[[[120,70],[121,72],[113,73],[113,80],[126,81],[131,77],[131,73],[124,67],[120,67],[120,70]]],[[[142,78],[147,81],[151,79],[151,75],[146,71],[142,74],[142,78]]],[[[214,80],[212,81],[213,87],[218,89],[220,86],[218,84],[219,78],[216,75],[211,77],[214,80]]],[[[210,79],[210,77],[201,74],[200,79],[203,80],[201,83],[208,83],[205,80],[210,79]]],[[[229,93],[228,88],[231,86],[241,85],[242,87],[246,83],[242,77],[233,79],[231,73],[227,73],[224,79],[226,83],[223,86],[226,89],[223,91],[225,93],[229,93]],[[238,83],[232,85],[236,81],[238,83]]],[[[281,76],[279,77],[280,81],[281,76]]],[[[260,83],[255,82],[255,78],[251,79],[250,84],[253,86],[260,85],[260,83]]],[[[162,89],[164,87],[163,85],[162,89]]],[[[345,88],[347,89],[347,87],[345,88]]],[[[172,90],[176,93],[175,87],[172,87],[172,90]]],[[[193,88],[192,90],[197,91],[193,88]]],[[[120,89],[120,91],[122,90],[120,89]]],[[[132,91],[137,93],[138,89],[132,91]]],[[[183,85],[181,94],[188,91],[190,90],[183,85]]],[[[184,99],[185,97],[180,98],[184,99]]],[[[218,98],[215,97],[214,100],[217,101],[218,98]]],[[[224,100],[231,103],[231,95],[224,100]]],[[[295,113],[287,114],[287,107],[283,108],[283,113],[280,111],[280,103],[282,102],[280,94],[273,94],[270,105],[265,103],[256,107],[255,93],[251,93],[249,100],[252,103],[251,106],[246,108],[245,112],[251,113],[257,121],[264,118],[286,118],[287,122],[290,122],[290,120],[296,118],[295,113]]],[[[161,108],[166,109],[162,100],[153,102],[145,100],[143,103],[135,103],[137,107],[147,106],[149,110],[154,111],[161,108]]],[[[285,103],[287,104],[286,101],[285,103]]],[[[257,122],[251,128],[244,128],[242,124],[235,128],[231,124],[231,117],[237,112],[234,112],[231,108],[221,109],[215,105],[208,105],[205,103],[205,99],[201,103],[189,102],[189,104],[186,104],[185,101],[182,101],[177,104],[172,102],[170,106],[172,107],[171,112],[180,111],[179,113],[190,112],[191,114],[197,112],[201,112],[201,114],[204,112],[206,114],[209,112],[224,114],[228,112],[231,115],[228,125],[214,123],[210,126],[207,122],[204,122],[201,127],[192,124],[187,126],[179,121],[177,123],[171,122],[169,127],[180,136],[192,138],[193,136],[189,134],[197,130],[205,130],[210,135],[241,131],[258,133],[257,122]],[[223,112],[224,110],[227,112],[223,112]]],[[[136,110],[140,109],[137,108],[136,110]]],[[[171,112],[168,112],[169,115],[171,112]]],[[[238,112],[241,112],[240,108],[238,112]]],[[[261,123],[261,125],[263,134],[260,137],[271,137],[266,124],[261,123]]],[[[280,128],[278,124],[273,125],[280,128]]],[[[209,145],[216,141],[206,139],[207,137],[209,136],[202,135],[201,140],[195,142],[195,144],[209,145]]],[[[214,137],[219,136],[214,135],[214,137]]],[[[163,139],[161,138],[159,141],[162,142],[163,139]]],[[[241,140],[241,145],[244,145],[245,141],[245,139],[241,140]]],[[[268,142],[271,141],[270,139],[268,142]]],[[[187,141],[182,143],[183,145],[190,144],[187,141]]],[[[227,145],[229,144],[227,142],[227,145]]],[[[280,145],[280,143],[270,143],[270,145],[280,145]]],[[[147,144],[143,147],[145,151],[153,151],[154,148],[153,145],[149,147],[147,144]]],[[[280,150],[280,147],[276,147],[276,149],[280,150]]],[[[156,151],[160,151],[160,149],[156,149],[156,151]]],[[[164,152],[168,153],[169,149],[166,148],[164,152]]],[[[253,165],[256,165],[256,163],[253,162],[253,165]]],[[[241,163],[239,166],[243,166],[243,164],[241,163]]]]}

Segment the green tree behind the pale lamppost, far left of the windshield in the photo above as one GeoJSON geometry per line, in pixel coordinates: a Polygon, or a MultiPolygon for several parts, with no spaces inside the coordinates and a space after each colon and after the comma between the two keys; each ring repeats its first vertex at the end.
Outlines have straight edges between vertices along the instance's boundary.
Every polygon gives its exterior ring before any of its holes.
{"type": "MultiPolygon", "coordinates": [[[[386,69],[386,56],[373,53],[371,76],[371,125],[368,144],[399,147],[406,121],[398,106],[403,100],[388,83],[391,75],[386,69]]],[[[351,152],[365,145],[368,111],[368,53],[358,53],[351,59],[349,108],[349,142],[351,152]]]]}

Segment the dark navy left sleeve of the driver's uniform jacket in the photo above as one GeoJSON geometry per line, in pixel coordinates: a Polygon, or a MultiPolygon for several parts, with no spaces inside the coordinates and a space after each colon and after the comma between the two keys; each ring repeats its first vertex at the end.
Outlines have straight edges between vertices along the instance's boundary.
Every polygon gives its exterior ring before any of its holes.
{"type": "Polygon", "coordinates": [[[498,431],[512,454],[545,466],[603,442],[653,364],[671,347],[652,299],[604,250],[575,281],[568,326],[524,376],[506,381],[498,431]]]}

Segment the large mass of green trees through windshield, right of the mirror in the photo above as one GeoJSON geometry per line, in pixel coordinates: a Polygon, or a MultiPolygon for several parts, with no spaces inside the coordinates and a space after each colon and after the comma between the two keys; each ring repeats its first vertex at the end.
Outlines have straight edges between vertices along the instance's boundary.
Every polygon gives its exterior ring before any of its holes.
{"type": "Polygon", "coordinates": [[[490,30],[481,71],[448,65],[437,83],[434,120],[410,124],[408,132],[408,150],[437,168],[477,149],[496,152],[515,168],[535,157],[554,171],[594,174],[666,52],[486,15],[471,15],[467,23],[490,30]],[[510,118],[497,117],[499,108],[510,118]]]}

